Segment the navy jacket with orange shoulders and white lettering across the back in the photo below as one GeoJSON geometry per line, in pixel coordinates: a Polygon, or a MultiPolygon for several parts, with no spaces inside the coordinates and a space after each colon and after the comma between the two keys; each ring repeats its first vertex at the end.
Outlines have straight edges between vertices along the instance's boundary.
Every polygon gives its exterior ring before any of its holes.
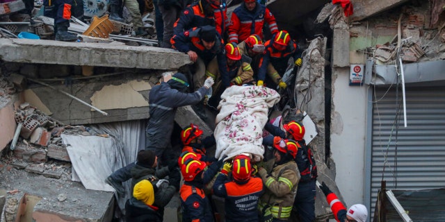
{"type": "Polygon", "coordinates": [[[213,194],[225,198],[225,219],[229,221],[258,221],[258,201],[263,194],[261,178],[252,177],[244,184],[229,180],[225,173],[218,174],[213,194]]]}

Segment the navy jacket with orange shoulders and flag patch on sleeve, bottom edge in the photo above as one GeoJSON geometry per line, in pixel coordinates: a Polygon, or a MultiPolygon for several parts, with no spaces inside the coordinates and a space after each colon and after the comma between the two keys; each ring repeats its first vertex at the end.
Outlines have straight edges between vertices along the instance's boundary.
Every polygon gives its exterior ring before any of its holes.
{"type": "Polygon", "coordinates": [[[210,200],[204,190],[185,182],[179,190],[183,222],[213,221],[210,200]]]}

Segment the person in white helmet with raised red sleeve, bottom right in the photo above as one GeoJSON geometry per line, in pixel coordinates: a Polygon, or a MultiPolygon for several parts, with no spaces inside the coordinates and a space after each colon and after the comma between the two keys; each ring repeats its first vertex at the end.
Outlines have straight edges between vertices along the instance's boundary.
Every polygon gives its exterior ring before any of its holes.
{"type": "Polygon", "coordinates": [[[337,195],[335,195],[329,187],[322,182],[320,186],[321,191],[326,196],[327,203],[330,205],[332,214],[334,214],[335,220],[338,222],[366,222],[368,218],[368,209],[362,204],[352,205],[348,211],[346,207],[341,203],[337,195]]]}

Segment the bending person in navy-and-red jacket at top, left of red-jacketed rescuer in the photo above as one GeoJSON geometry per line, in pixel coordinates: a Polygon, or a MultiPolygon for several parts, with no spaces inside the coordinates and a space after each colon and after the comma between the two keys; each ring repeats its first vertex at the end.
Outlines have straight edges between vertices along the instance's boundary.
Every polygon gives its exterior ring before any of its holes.
{"type": "Polygon", "coordinates": [[[198,0],[181,13],[173,33],[179,35],[192,28],[213,26],[224,37],[229,22],[225,0],[198,0]]]}

